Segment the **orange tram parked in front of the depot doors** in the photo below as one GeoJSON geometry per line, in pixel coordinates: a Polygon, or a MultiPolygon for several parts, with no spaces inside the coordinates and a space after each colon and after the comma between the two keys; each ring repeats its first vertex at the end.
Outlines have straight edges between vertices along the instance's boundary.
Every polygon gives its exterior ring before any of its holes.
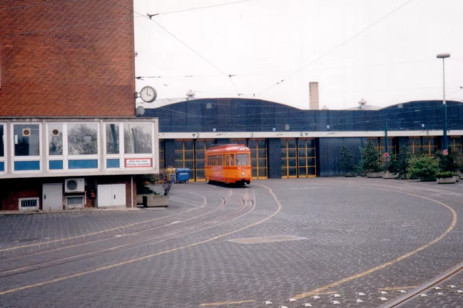
{"type": "Polygon", "coordinates": [[[205,176],[209,183],[251,183],[251,151],[239,144],[216,145],[206,153],[205,176]]]}

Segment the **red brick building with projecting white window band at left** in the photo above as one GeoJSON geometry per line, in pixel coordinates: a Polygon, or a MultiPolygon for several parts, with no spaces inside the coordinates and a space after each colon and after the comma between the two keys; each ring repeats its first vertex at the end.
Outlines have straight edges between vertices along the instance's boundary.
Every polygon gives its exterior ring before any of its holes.
{"type": "Polygon", "coordinates": [[[1,210],[136,206],[132,175],[157,172],[158,144],[135,116],[132,10],[0,1],[1,210]]]}

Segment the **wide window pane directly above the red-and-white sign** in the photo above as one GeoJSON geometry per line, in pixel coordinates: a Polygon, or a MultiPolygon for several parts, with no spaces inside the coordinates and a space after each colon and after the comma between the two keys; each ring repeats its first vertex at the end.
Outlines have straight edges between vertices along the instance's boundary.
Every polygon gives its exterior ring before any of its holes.
{"type": "Polygon", "coordinates": [[[124,124],[125,154],[153,153],[153,125],[124,124]]]}

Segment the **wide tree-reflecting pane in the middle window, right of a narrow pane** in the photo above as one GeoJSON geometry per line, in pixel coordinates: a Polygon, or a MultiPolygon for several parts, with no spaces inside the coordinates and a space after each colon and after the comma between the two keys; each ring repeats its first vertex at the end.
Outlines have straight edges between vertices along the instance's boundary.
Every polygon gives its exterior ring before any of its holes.
{"type": "Polygon", "coordinates": [[[98,124],[68,124],[69,155],[98,154],[98,124]]]}

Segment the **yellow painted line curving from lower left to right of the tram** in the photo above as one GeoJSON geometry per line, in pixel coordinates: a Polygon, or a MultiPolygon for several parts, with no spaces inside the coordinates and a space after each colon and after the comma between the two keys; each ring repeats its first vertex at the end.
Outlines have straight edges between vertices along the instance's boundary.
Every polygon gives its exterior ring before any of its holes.
{"type": "MultiPolygon", "coordinates": [[[[255,184],[255,185],[258,185],[258,184],[255,184]]],[[[213,241],[213,240],[217,240],[217,239],[226,237],[226,236],[228,236],[228,235],[231,235],[231,234],[234,234],[234,233],[243,231],[243,230],[248,229],[248,228],[250,228],[250,227],[259,225],[259,224],[263,223],[264,221],[269,220],[270,218],[272,218],[272,217],[275,216],[276,214],[278,214],[278,213],[280,212],[280,210],[281,210],[281,203],[278,201],[278,199],[276,198],[275,194],[274,194],[273,191],[270,189],[270,187],[267,187],[267,186],[265,186],[265,185],[258,185],[258,186],[262,186],[262,187],[267,188],[267,189],[269,190],[270,194],[273,196],[273,199],[275,200],[276,204],[278,205],[278,208],[277,208],[270,216],[267,216],[266,218],[264,218],[264,219],[262,219],[262,220],[259,220],[258,222],[252,223],[252,224],[247,225],[246,227],[240,228],[240,229],[238,229],[238,230],[235,230],[235,231],[232,231],[232,232],[228,232],[228,233],[225,233],[225,234],[222,234],[222,235],[219,235],[219,236],[210,238],[210,239],[208,239],[208,240],[202,240],[202,241],[195,242],[195,243],[193,243],[193,244],[189,244],[189,245],[185,245],[185,246],[181,246],[181,247],[177,247],[177,248],[173,248],[173,249],[169,249],[169,250],[165,250],[165,251],[161,251],[161,252],[156,252],[156,253],[153,253],[153,254],[150,254],[150,255],[147,255],[147,256],[144,256],[144,257],[140,257],[140,258],[135,258],[135,259],[127,260],[127,261],[124,261],[124,262],[120,262],[120,263],[116,263],[116,264],[113,264],[113,265],[104,266],[104,267],[97,268],[97,269],[90,270],[90,271],[86,271],[86,272],[81,272],[81,273],[77,273],[77,274],[72,274],[72,275],[69,275],[69,276],[64,276],[64,277],[60,277],[60,278],[56,278],[56,279],[52,279],[52,280],[47,280],[47,281],[43,281],[43,282],[39,282],[39,283],[34,283],[34,284],[26,285],[26,286],[23,286],[23,287],[18,287],[18,288],[6,290],[6,291],[3,291],[3,292],[0,292],[0,295],[5,295],[5,294],[9,294],[9,293],[21,291],[21,290],[26,290],[26,289],[31,289],[31,288],[39,287],[39,286],[42,286],[42,285],[46,285],[46,284],[50,284],[50,283],[54,283],[54,282],[59,282],[59,281],[66,280],[66,279],[70,279],[70,278],[75,278],[75,277],[83,276],[83,275],[86,275],[86,274],[92,274],[92,273],[97,273],[97,272],[101,272],[101,271],[104,271],[104,270],[109,270],[109,269],[112,269],[112,268],[115,268],[115,267],[119,267],[119,266],[122,266],[122,265],[126,265],[126,264],[130,264],[130,263],[142,261],[142,260],[145,260],[145,259],[148,259],[148,258],[152,258],[152,257],[155,257],[155,256],[163,255],[163,254],[166,254],[166,253],[169,253],[169,252],[174,252],[174,251],[177,251],[177,250],[180,250],[180,249],[184,249],[184,248],[188,248],[188,247],[194,247],[194,246],[197,246],[197,245],[200,245],[200,244],[204,244],[204,243],[207,243],[207,242],[210,242],[210,241],[213,241]]]]}

